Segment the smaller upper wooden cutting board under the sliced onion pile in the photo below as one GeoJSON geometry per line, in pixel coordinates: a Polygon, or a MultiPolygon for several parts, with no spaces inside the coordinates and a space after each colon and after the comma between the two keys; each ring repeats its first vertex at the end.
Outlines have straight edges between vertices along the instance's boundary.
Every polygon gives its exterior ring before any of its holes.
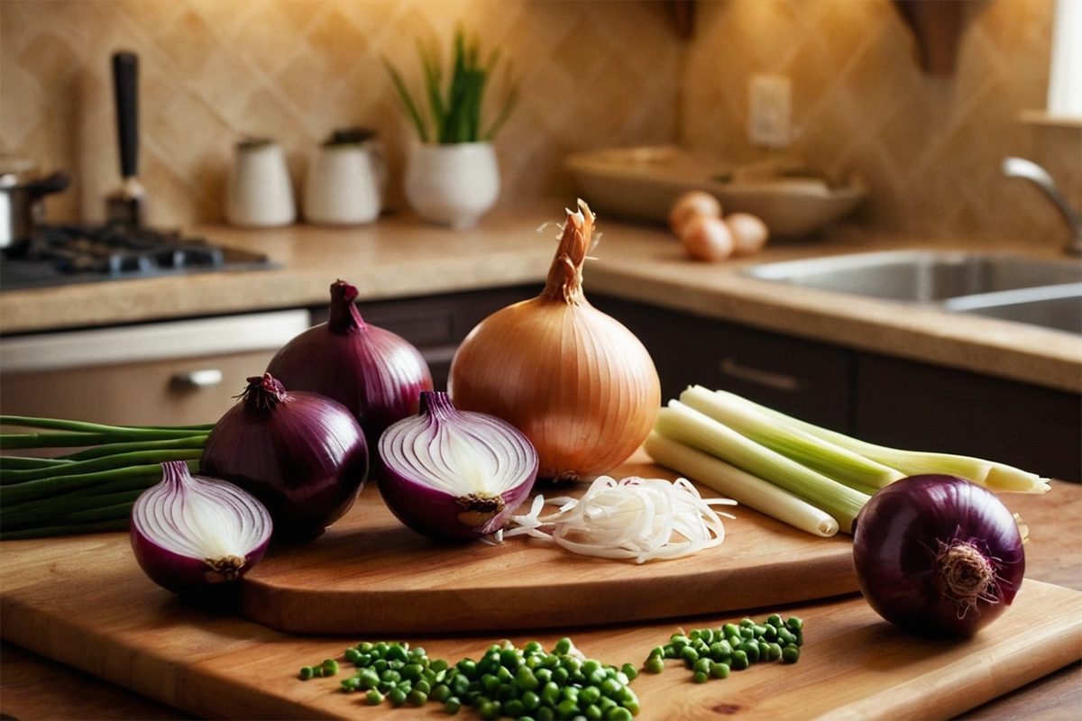
{"type": "MultiPolygon", "coordinates": [[[[616,477],[636,475],[675,478],[636,463],[616,477]]],[[[523,536],[498,546],[439,544],[398,522],[369,483],[324,536],[275,548],[252,569],[241,612],[293,633],[499,631],[721,613],[858,590],[849,536],[819,538],[741,506],[721,510],[736,517],[726,519],[721,546],[636,564],[523,536]]]]}

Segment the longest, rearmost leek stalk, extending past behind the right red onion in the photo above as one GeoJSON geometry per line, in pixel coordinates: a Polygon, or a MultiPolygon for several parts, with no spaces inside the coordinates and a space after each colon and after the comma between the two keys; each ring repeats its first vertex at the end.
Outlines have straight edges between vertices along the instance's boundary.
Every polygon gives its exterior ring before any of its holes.
{"type": "Polygon", "coordinates": [[[885,445],[876,445],[875,443],[850,438],[844,433],[794,418],[780,411],[760,405],[736,393],[725,390],[715,390],[713,392],[733,403],[754,409],[769,416],[775,423],[816,436],[835,445],[847,448],[885,466],[895,468],[906,476],[919,476],[922,473],[960,476],[992,491],[1046,493],[1051,488],[1047,479],[1007,464],[950,453],[905,451],[885,445]]]}

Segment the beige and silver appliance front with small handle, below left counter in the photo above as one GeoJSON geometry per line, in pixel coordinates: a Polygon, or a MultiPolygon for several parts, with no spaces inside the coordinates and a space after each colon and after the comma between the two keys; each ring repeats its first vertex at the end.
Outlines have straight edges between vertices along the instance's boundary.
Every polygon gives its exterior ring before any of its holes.
{"type": "Polygon", "coordinates": [[[0,415],[173,426],[216,422],[306,309],[0,338],[0,415]]]}

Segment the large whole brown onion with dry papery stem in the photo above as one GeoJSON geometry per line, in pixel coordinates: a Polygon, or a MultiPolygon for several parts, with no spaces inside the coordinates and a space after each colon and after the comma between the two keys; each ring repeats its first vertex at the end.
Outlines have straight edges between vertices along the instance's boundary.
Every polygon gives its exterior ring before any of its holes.
{"type": "Polygon", "coordinates": [[[456,408],[520,430],[538,452],[539,479],[608,472],[642,444],[661,406],[649,352],[582,292],[593,224],[583,201],[567,211],[545,289],[478,323],[451,361],[456,408]]]}

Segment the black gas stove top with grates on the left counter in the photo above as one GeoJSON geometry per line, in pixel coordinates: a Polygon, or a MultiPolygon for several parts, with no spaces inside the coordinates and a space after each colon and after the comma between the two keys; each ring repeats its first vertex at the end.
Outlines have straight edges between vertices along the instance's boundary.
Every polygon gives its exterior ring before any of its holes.
{"type": "Polygon", "coordinates": [[[0,291],[275,267],[265,255],[179,231],[55,225],[38,228],[28,244],[0,256],[0,291]]]}

